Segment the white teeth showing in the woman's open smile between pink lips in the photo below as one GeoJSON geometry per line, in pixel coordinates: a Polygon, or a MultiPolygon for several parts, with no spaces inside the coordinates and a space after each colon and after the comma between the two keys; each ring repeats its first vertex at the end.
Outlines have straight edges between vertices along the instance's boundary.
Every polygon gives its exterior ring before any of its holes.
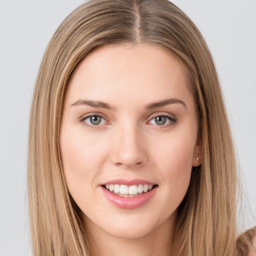
{"type": "Polygon", "coordinates": [[[135,197],[144,194],[151,189],[155,188],[157,185],[148,184],[138,184],[138,185],[124,185],[124,184],[105,184],[103,187],[108,191],[122,196],[122,197],[135,197]]]}

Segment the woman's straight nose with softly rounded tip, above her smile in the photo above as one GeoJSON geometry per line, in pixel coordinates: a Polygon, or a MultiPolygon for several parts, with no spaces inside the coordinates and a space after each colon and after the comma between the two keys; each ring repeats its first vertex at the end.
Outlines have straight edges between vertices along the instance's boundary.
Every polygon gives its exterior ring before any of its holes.
{"type": "Polygon", "coordinates": [[[118,128],[113,137],[112,163],[130,168],[139,167],[146,163],[146,143],[136,125],[118,128]]]}

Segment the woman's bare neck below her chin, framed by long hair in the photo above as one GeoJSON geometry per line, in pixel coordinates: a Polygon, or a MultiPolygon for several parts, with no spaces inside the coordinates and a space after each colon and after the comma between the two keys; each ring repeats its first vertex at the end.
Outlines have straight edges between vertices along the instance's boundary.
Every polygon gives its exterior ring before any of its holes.
{"type": "Polygon", "coordinates": [[[169,217],[154,230],[142,237],[125,238],[113,236],[100,227],[93,226],[88,219],[86,229],[91,256],[169,256],[176,218],[169,217]]]}

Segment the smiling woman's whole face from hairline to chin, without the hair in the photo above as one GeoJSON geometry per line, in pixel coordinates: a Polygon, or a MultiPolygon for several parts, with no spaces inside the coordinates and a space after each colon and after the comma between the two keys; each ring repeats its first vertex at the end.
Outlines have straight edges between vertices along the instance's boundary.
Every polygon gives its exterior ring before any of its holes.
{"type": "Polygon", "coordinates": [[[60,149],[92,233],[136,238],[174,227],[199,165],[197,121],[184,67],[170,53],[138,43],[84,57],[65,94],[60,149]]]}

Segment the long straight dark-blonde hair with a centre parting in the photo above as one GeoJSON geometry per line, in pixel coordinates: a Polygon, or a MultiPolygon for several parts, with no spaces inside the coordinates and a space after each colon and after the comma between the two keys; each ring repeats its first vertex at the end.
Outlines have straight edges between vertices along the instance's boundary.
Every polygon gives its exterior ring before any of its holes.
{"type": "Polygon", "coordinates": [[[123,42],[146,42],[174,53],[188,70],[198,105],[202,164],[192,169],[179,205],[172,254],[238,255],[236,164],[218,77],[201,33],[168,0],[91,0],[75,9],[51,38],[36,80],[29,125],[27,178],[34,255],[89,255],[86,227],[61,166],[63,98],[72,70],[91,49],[123,42]]]}

